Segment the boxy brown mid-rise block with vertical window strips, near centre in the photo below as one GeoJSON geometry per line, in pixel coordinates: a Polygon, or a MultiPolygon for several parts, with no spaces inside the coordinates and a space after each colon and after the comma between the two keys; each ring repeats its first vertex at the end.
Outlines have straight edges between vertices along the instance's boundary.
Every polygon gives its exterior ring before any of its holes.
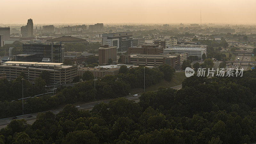
{"type": "Polygon", "coordinates": [[[101,45],[99,48],[99,64],[107,64],[109,59],[116,63],[116,46],[101,45]]]}

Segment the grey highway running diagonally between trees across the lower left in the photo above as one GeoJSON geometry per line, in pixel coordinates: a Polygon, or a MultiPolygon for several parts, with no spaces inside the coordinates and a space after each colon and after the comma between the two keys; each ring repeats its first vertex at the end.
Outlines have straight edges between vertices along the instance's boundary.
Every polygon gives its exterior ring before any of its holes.
{"type": "MultiPolygon", "coordinates": [[[[181,85],[176,85],[176,86],[173,86],[171,88],[180,89],[181,87],[182,87],[181,85]]],[[[136,103],[138,103],[140,101],[140,99],[139,99],[140,95],[141,94],[139,93],[138,96],[136,96],[136,97],[133,97],[133,95],[130,95],[130,96],[126,96],[124,98],[126,98],[128,100],[134,100],[136,103]]],[[[80,104],[80,105],[76,105],[76,106],[77,106],[78,110],[92,110],[92,108],[97,103],[101,103],[101,102],[108,103],[110,100],[113,100],[113,99],[94,101],[94,102],[84,103],[84,104],[80,104]]],[[[54,109],[54,110],[51,110],[51,111],[52,111],[53,114],[58,114],[60,111],[63,110],[63,108],[58,108],[58,109],[54,109]]],[[[40,113],[42,113],[42,112],[40,112],[40,113]]],[[[33,124],[36,121],[37,114],[38,113],[28,114],[28,115],[23,115],[23,116],[17,116],[17,119],[25,119],[28,124],[33,124]],[[32,116],[32,117],[28,117],[28,116],[32,116]]],[[[12,121],[12,118],[0,119],[0,129],[6,127],[7,124],[9,124],[11,121],[12,121]]]]}

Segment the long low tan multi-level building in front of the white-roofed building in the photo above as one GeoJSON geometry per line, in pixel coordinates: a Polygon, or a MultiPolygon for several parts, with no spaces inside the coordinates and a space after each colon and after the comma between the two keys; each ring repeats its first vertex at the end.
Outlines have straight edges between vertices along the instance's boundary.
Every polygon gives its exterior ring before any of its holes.
{"type": "Polygon", "coordinates": [[[136,66],[151,66],[158,68],[162,64],[171,65],[172,68],[180,65],[180,57],[177,55],[122,55],[122,63],[136,66]]]}

